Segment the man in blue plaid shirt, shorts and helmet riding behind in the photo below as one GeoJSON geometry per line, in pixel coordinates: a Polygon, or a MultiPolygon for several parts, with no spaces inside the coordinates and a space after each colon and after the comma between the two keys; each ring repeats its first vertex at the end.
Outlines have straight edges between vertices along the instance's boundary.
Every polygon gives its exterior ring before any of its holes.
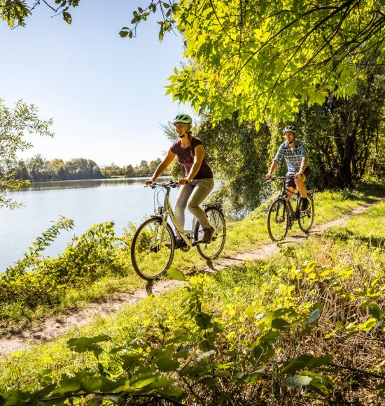
{"type": "Polygon", "coordinates": [[[286,192],[288,196],[291,197],[293,191],[295,191],[295,187],[297,187],[302,196],[301,210],[307,210],[309,201],[307,199],[306,184],[304,184],[310,174],[310,169],[307,166],[309,163],[307,147],[302,140],[296,138],[297,131],[294,126],[286,126],[282,132],[286,141],[279,146],[265,178],[269,179],[272,177],[272,174],[283,157],[288,166],[288,173],[286,173],[286,175],[294,175],[294,179],[290,178],[286,180],[286,192]]]}

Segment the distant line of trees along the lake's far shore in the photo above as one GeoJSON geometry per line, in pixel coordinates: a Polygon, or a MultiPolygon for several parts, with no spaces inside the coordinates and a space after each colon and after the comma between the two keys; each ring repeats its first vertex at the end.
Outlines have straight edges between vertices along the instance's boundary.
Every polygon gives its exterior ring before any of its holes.
{"type": "Polygon", "coordinates": [[[64,162],[62,159],[48,161],[41,154],[24,160],[0,161],[0,178],[12,175],[18,180],[44,182],[48,180],[82,180],[108,177],[150,176],[160,164],[160,159],[141,161],[139,165],[120,167],[116,164],[100,167],[92,159],[75,158],[64,162]]]}

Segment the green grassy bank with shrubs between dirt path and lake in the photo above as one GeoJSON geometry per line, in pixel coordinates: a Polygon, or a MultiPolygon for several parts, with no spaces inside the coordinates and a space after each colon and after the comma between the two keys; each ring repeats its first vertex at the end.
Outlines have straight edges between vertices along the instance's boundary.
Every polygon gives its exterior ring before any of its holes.
{"type": "MultiPolygon", "coordinates": [[[[361,192],[325,191],[315,195],[316,219],[323,224],[353,208],[367,203],[372,196],[361,192]]],[[[223,255],[246,252],[269,242],[266,228],[268,202],[241,222],[228,225],[223,255]]],[[[292,232],[297,230],[293,229],[292,232]]],[[[29,324],[41,317],[94,301],[108,300],[117,291],[144,287],[131,266],[130,232],[116,238],[113,224],[100,224],[81,236],[57,259],[41,259],[38,247],[49,244],[55,235],[47,233],[36,241],[31,253],[0,278],[0,324],[29,324]],[[28,257],[29,255],[29,257],[28,257]],[[10,275],[10,277],[9,277],[10,275]]],[[[195,249],[176,252],[174,266],[192,270],[204,265],[195,249]]]]}

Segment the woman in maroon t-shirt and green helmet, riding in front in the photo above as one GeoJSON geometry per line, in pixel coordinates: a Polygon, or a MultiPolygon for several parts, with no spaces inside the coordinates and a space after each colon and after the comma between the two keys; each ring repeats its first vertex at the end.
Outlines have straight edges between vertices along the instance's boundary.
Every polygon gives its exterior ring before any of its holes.
{"type": "MultiPolygon", "coordinates": [[[[150,180],[146,184],[151,184],[165,172],[172,164],[174,158],[178,156],[179,164],[184,166],[185,175],[179,179],[181,185],[175,203],[175,217],[178,224],[184,228],[185,210],[188,210],[200,222],[204,235],[202,242],[207,244],[214,235],[215,229],[211,226],[207,215],[200,208],[200,203],[204,201],[214,188],[214,177],[211,168],[204,159],[204,147],[200,138],[193,137],[191,124],[193,119],[187,114],[179,114],[174,119],[174,126],[178,133],[179,140],[172,144],[165,159],[156,168],[150,180]]],[[[176,248],[185,245],[179,233],[176,233],[176,248]]]]}

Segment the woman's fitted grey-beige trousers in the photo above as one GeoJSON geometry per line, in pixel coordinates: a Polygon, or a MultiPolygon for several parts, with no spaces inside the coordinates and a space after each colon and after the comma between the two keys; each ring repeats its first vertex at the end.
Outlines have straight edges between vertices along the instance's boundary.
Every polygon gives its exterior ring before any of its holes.
{"type": "Polygon", "coordinates": [[[204,201],[214,187],[214,179],[207,177],[205,179],[192,180],[188,184],[183,184],[179,188],[178,196],[175,202],[175,218],[179,226],[184,229],[185,210],[188,210],[197,217],[202,229],[209,229],[210,223],[206,214],[200,208],[200,203],[204,201]]]}

